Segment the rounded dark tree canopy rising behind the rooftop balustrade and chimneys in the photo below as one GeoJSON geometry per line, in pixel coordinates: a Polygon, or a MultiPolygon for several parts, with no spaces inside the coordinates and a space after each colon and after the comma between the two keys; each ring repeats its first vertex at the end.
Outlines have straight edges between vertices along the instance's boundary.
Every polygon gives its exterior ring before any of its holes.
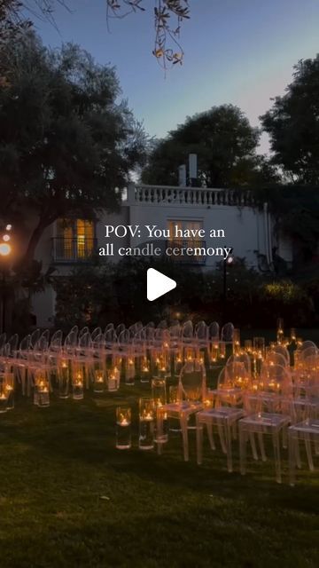
{"type": "Polygon", "coordinates": [[[188,117],[160,140],[144,168],[148,184],[176,185],[178,167],[189,154],[198,155],[198,179],[207,187],[251,185],[276,179],[263,156],[256,154],[260,132],[237,106],[213,106],[188,117]]]}

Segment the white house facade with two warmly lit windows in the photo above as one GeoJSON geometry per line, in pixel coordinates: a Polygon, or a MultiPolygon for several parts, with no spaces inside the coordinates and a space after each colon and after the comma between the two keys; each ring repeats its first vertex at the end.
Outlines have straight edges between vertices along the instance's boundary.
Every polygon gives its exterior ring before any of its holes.
{"type": "MultiPolygon", "coordinates": [[[[249,267],[267,270],[272,264],[272,250],[284,260],[292,260],[289,241],[276,237],[274,222],[268,213],[268,205],[258,208],[253,195],[248,191],[229,189],[196,188],[186,186],[128,185],[126,199],[118,213],[100,214],[97,222],[85,219],[58,219],[43,233],[35,258],[43,264],[45,272],[54,266],[57,276],[66,276],[77,265],[89,263],[93,253],[98,253],[107,244],[113,245],[113,262],[122,258],[119,254],[126,248],[141,247],[156,243],[163,254],[167,246],[178,252],[187,247],[210,248],[210,252],[231,248],[231,255],[245,258],[249,267]],[[138,226],[134,236],[110,233],[107,226],[138,226]],[[150,236],[145,227],[166,230],[167,238],[150,236]],[[188,231],[189,230],[189,231],[188,231]],[[189,233],[203,237],[189,236],[189,233]],[[175,236],[177,233],[177,236],[175,236]],[[214,233],[214,237],[210,235],[214,233]],[[187,237],[183,237],[187,234],[187,237]]],[[[110,248],[109,248],[110,250],[110,248]]],[[[107,258],[107,256],[104,256],[107,258]]],[[[216,252],[198,256],[172,257],[175,262],[188,264],[190,270],[212,270],[222,256],[216,252]]],[[[55,293],[48,287],[33,298],[33,310],[38,327],[50,327],[55,311],[55,293]]]]}

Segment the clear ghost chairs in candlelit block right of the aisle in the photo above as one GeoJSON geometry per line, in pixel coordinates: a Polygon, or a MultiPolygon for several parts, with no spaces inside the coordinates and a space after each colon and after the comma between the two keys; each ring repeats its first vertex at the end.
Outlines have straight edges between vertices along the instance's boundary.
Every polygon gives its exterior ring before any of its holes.
{"type": "MultiPolygon", "coordinates": [[[[213,450],[216,447],[214,430],[217,430],[229,471],[233,469],[234,438],[239,437],[240,470],[245,474],[247,442],[257,460],[257,438],[261,459],[266,461],[266,434],[272,439],[278,483],[282,480],[280,447],[282,444],[286,448],[288,441],[291,484],[294,484],[296,465],[301,465],[300,439],[306,447],[309,469],[314,469],[313,446],[315,455],[319,455],[319,350],[315,344],[301,345],[297,372],[294,372],[280,347],[268,351],[258,376],[253,375],[251,359],[246,353],[232,355],[214,390],[206,388],[205,367],[198,360],[185,364],[179,379],[178,401],[158,409],[159,432],[164,428],[164,418],[179,420],[185,461],[189,459],[189,422],[195,415],[198,463],[202,462],[205,428],[213,450]],[[276,353],[276,349],[280,352],[276,353]],[[305,375],[304,370],[309,367],[311,372],[305,375]]],[[[158,448],[161,453],[163,444],[158,448]]]]}

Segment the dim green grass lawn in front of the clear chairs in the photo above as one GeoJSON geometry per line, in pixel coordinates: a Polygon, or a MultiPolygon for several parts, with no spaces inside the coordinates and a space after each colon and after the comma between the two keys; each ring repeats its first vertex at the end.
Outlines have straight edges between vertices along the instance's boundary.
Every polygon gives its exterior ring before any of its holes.
{"type": "MultiPolygon", "coordinates": [[[[203,466],[137,449],[136,383],[83,401],[52,397],[49,408],[19,399],[0,415],[0,566],[318,566],[319,478],[275,483],[273,461],[229,474],[205,448],[203,466]],[[134,447],[114,447],[114,409],[134,408],[134,447]]],[[[235,468],[238,470],[237,448],[235,468]]],[[[318,461],[317,461],[318,465],[318,461]]]]}

